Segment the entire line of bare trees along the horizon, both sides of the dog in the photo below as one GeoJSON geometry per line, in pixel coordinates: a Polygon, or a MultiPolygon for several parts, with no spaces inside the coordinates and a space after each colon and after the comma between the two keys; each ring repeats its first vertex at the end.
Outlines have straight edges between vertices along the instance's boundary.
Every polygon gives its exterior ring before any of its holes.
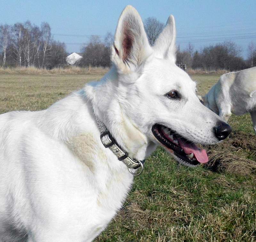
{"type": "MultiPolygon", "coordinates": [[[[150,45],[164,28],[164,24],[156,18],[144,21],[145,31],[150,45]]],[[[112,33],[107,33],[104,40],[92,35],[90,40],[81,48],[83,59],[77,65],[102,66],[111,65],[111,45],[114,41],[112,33]]],[[[256,66],[256,45],[251,42],[247,49],[248,58],[241,57],[241,48],[232,41],[209,45],[195,50],[191,43],[185,50],[177,47],[177,64],[186,64],[193,69],[204,70],[242,70],[256,66]]],[[[51,27],[43,22],[40,27],[30,21],[24,24],[0,25],[0,66],[35,66],[51,69],[66,65],[67,57],[64,43],[53,40],[51,27]]]]}

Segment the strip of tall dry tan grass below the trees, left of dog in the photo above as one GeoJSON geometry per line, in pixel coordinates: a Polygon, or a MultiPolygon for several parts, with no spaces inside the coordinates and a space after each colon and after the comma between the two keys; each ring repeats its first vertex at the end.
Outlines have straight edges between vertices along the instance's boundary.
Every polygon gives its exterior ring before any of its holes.
{"type": "Polygon", "coordinates": [[[16,75],[76,75],[76,74],[102,74],[107,73],[109,68],[103,67],[77,67],[53,68],[52,70],[38,69],[36,67],[0,68],[0,74],[16,75]]]}

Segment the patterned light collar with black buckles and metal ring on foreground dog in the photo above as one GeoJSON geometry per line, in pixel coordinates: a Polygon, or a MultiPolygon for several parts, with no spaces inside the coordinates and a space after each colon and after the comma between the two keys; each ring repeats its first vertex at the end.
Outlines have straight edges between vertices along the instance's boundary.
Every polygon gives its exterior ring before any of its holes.
{"type": "Polygon", "coordinates": [[[122,148],[116,143],[115,138],[110,134],[108,131],[108,128],[105,126],[105,124],[100,121],[99,117],[94,113],[96,123],[98,125],[98,128],[100,130],[100,140],[101,143],[104,145],[105,148],[108,148],[111,150],[114,155],[117,157],[118,160],[124,162],[124,164],[128,167],[128,170],[130,173],[132,173],[133,176],[139,176],[144,168],[145,160],[136,160],[131,157],[129,157],[129,154],[122,150],[122,148]],[[140,172],[133,173],[131,171],[132,169],[141,168],[140,172]]]}

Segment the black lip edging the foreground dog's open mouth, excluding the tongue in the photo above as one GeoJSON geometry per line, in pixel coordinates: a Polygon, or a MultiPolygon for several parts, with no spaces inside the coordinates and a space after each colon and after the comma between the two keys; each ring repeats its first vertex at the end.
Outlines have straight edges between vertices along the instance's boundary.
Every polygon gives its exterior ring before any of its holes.
{"type": "MultiPolygon", "coordinates": [[[[161,143],[163,144],[165,147],[167,147],[168,149],[171,149],[173,150],[174,154],[179,158],[181,159],[182,161],[184,161],[185,163],[188,163],[189,165],[199,165],[200,163],[197,161],[197,160],[191,160],[188,158],[187,154],[184,152],[184,150],[180,147],[180,146],[177,146],[175,145],[174,143],[172,142],[169,142],[168,140],[166,140],[164,138],[164,134],[161,130],[161,127],[165,127],[164,125],[161,125],[161,124],[154,124],[152,126],[152,133],[153,135],[156,137],[156,139],[161,143]]],[[[167,127],[168,128],[168,127],[167,127]]],[[[175,134],[175,136],[179,136],[174,130],[170,129],[171,130],[171,134],[175,134]]],[[[189,141],[188,141],[189,142],[189,141]]]]}

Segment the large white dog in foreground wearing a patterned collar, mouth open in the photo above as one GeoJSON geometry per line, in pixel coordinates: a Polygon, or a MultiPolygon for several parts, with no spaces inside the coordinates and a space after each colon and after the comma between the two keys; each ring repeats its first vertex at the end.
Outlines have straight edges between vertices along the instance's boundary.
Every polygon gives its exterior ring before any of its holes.
{"type": "Polygon", "coordinates": [[[1,241],[92,241],[124,202],[133,168],[158,144],[195,166],[208,160],[195,143],[230,133],[175,65],[172,16],[150,47],[127,6],[111,58],[100,82],[48,109],[0,115],[1,241]]]}

